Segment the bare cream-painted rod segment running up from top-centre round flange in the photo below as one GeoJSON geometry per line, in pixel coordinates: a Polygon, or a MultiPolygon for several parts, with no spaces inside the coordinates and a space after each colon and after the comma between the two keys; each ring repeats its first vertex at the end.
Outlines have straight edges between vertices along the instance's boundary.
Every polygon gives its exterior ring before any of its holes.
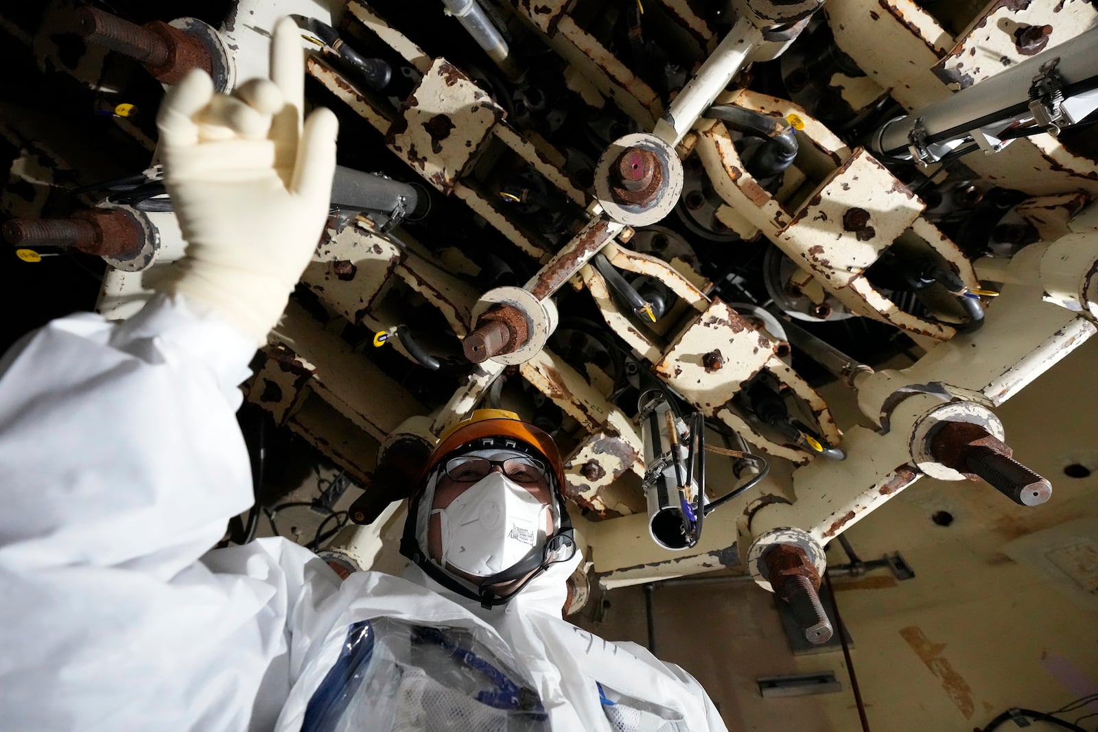
{"type": "Polygon", "coordinates": [[[702,113],[709,109],[743,65],[751,52],[762,43],[762,32],[746,18],[737,21],[697,70],[690,83],[679,92],[671,106],[656,123],[654,132],[671,145],[676,145],[690,132],[702,113]]]}

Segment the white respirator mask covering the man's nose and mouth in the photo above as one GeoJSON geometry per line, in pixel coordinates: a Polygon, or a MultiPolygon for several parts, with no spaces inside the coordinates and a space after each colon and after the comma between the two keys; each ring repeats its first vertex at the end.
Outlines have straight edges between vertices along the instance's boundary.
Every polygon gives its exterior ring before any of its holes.
{"type": "MultiPolygon", "coordinates": [[[[438,514],[442,565],[475,577],[490,577],[517,564],[531,550],[540,553],[549,506],[529,491],[493,471],[438,514]]],[[[539,554],[540,555],[540,554],[539,554]]]]}

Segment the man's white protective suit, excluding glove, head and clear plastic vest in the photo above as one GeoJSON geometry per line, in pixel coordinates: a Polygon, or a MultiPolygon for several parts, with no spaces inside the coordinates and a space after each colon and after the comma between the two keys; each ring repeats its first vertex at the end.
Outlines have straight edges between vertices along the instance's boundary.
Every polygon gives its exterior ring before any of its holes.
{"type": "Polygon", "coordinates": [[[255,342],[197,309],[70,316],[0,361],[0,729],[299,730],[348,628],[393,618],[471,631],[553,730],[725,730],[681,668],[561,619],[578,558],[485,610],[417,567],[340,583],[283,539],[209,551],[251,503],[255,342]]]}

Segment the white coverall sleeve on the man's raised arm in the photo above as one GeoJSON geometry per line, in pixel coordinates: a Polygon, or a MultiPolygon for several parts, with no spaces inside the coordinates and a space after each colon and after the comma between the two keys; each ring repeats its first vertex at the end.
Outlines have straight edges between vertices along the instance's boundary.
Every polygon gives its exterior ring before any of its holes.
{"type": "Polygon", "coordinates": [[[255,341],[160,296],[0,360],[0,729],[270,729],[338,587],[280,539],[200,558],[253,502],[255,341]]]}

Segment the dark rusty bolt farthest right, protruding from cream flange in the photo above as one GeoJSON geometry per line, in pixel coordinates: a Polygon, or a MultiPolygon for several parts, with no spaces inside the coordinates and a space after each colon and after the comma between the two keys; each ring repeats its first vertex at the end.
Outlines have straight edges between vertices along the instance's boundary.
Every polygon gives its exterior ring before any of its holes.
{"type": "Polygon", "coordinates": [[[1021,506],[1052,497],[1052,483],[1012,459],[1013,450],[979,425],[946,421],[928,435],[934,460],[970,480],[984,478],[1021,506]]]}

